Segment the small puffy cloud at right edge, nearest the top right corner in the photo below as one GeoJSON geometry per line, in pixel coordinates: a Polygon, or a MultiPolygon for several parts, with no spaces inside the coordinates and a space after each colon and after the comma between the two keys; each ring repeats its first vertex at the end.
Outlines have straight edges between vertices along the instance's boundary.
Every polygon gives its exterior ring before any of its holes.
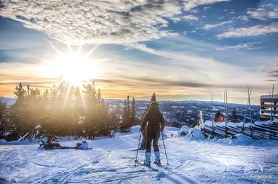
{"type": "Polygon", "coordinates": [[[270,8],[257,8],[252,11],[247,11],[251,18],[266,20],[268,18],[278,18],[278,8],[270,10],[270,8]]]}

